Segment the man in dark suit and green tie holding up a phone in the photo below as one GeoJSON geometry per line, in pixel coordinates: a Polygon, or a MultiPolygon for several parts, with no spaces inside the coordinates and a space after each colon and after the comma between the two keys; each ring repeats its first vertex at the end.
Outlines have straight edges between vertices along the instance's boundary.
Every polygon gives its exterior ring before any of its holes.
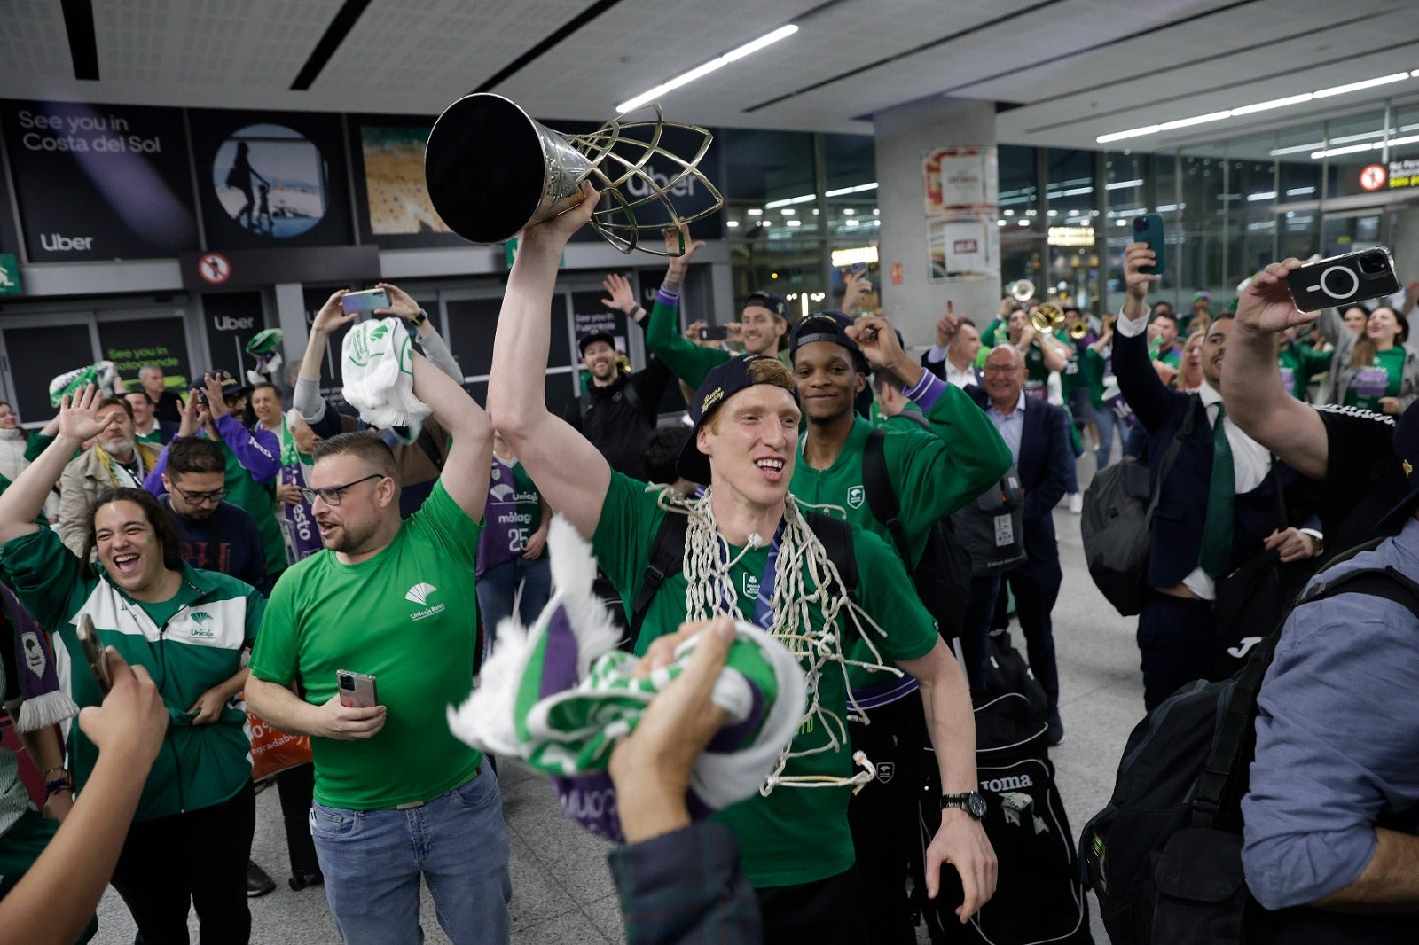
{"type": "MultiPolygon", "coordinates": [[[[1321,551],[1315,531],[1287,528],[1277,518],[1277,471],[1271,454],[1242,433],[1222,407],[1222,359],[1233,319],[1220,315],[1202,346],[1203,385],[1196,394],[1166,387],[1148,360],[1148,306],[1144,298],[1156,275],[1154,253],[1144,243],[1124,254],[1127,297],[1114,341],[1114,376],[1147,433],[1149,480],[1158,477],[1169,444],[1181,436],[1178,458],[1162,484],[1151,522],[1148,600],[1138,614],[1144,705],[1158,704],[1212,671],[1216,580],[1263,549],[1279,549],[1283,562],[1321,551]],[[1230,463],[1227,463],[1230,455],[1230,463]]],[[[1290,470],[1284,470],[1291,475],[1290,470]]]]}

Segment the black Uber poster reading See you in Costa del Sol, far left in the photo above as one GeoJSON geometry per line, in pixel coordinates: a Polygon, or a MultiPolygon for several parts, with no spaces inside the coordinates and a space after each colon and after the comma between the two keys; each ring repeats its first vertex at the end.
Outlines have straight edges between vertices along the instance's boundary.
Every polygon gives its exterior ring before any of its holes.
{"type": "Polygon", "coordinates": [[[7,101],[0,128],[31,262],[197,248],[179,109],[7,101]]]}

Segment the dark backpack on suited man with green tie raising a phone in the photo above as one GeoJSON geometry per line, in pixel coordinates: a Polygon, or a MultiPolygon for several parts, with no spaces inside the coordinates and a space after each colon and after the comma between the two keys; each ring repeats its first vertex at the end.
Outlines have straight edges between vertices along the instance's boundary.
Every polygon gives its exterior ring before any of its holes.
{"type": "Polygon", "coordinates": [[[1078,532],[1084,542],[1088,575],[1108,603],[1125,617],[1144,609],[1152,514],[1182,441],[1192,433],[1196,411],[1198,396],[1193,394],[1182,416],[1182,426],[1162,457],[1155,488],[1148,487],[1148,464],[1124,457],[1095,472],[1094,481],[1084,490],[1084,514],[1078,532]]]}

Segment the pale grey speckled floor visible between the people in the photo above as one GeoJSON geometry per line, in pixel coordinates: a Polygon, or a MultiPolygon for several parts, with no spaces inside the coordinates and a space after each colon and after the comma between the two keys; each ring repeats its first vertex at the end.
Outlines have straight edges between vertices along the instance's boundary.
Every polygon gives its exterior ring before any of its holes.
{"type": "MultiPolygon", "coordinates": [[[[1081,467],[1090,465],[1086,460],[1081,467]]],[[[1086,472],[1084,468],[1080,470],[1086,472]]],[[[1120,617],[1088,579],[1078,541],[1078,516],[1054,512],[1064,563],[1064,586],[1054,607],[1060,714],[1064,744],[1051,752],[1059,788],[1077,831],[1112,790],[1114,772],[1130,729],[1142,717],[1142,682],[1134,621],[1120,617]]],[[[1016,633],[1017,637],[1017,633],[1016,633]]],[[[606,868],[606,843],[585,833],[556,803],[548,782],[514,763],[501,765],[504,812],[512,844],[512,941],[518,945],[620,942],[620,911],[606,868]]],[[[275,792],[257,799],[254,857],[277,891],[251,902],[257,945],[339,942],[319,888],[292,892],[275,792]]],[[[192,918],[196,941],[196,917],[192,918]]],[[[447,942],[424,895],[423,925],[430,942],[447,942]]],[[[1094,938],[1107,942],[1093,917],[1094,938]]],[[[99,907],[98,945],[129,945],[133,924],[112,892],[99,907]]],[[[925,938],[922,936],[922,941],[925,938]]]]}

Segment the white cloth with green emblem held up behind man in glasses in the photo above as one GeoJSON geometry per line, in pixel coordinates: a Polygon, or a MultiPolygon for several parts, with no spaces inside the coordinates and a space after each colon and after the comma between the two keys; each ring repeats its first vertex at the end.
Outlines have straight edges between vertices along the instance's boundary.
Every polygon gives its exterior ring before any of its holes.
{"type": "Polygon", "coordinates": [[[430,414],[414,396],[413,349],[397,318],[360,322],[341,349],[345,400],[372,427],[412,426],[430,414]]]}

